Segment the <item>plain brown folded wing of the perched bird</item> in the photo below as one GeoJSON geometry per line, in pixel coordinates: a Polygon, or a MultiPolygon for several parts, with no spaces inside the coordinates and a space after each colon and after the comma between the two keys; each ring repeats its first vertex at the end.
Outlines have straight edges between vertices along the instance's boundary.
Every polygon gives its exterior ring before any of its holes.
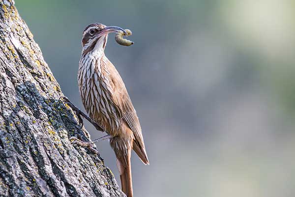
{"type": "Polygon", "coordinates": [[[136,111],[126,90],[125,84],[123,83],[123,80],[121,79],[117,69],[110,61],[108,69],[110,70],[111,84],[113,86],[112,100],[117,107],[121,118],[133,132],[135,142],[133,143],[133,146],[135,146],[133,148],[134,151],[145,164],[148,164],[148,157],[142,129],[136,111]]]}

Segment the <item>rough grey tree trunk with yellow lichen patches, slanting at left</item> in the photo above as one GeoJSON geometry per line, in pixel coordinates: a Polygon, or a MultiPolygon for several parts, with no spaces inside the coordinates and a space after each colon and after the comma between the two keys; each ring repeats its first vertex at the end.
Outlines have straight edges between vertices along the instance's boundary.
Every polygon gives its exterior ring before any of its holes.
{"type": "Polygon", "coordinates": [[[0,196],[122,197],[13,0],[0,0],[0,196]]]}

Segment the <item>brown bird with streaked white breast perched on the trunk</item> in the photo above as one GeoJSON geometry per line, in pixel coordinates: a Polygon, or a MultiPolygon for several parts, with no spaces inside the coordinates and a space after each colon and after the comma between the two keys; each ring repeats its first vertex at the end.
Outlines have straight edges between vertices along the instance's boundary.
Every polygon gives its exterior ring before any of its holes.
{"type": "MultiPolygon", "coordinates": [[[[117,157],[122,191],[133,197],[131,150],[149,164],[138,116],[125,84],[104,49],[108,34],[122,28],[94,23],[83,31],[78,83],[83,105],[93,122],[108,135],[117,157]]],[[[101,140],[100,139],[100,140],[101,140]]]]}

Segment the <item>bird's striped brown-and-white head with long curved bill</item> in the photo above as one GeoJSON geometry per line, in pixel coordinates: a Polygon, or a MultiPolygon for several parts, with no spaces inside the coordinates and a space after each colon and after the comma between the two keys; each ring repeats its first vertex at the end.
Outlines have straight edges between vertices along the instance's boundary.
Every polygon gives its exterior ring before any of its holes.
{"type": "Polygon", "coordinates": [[[83,52],[92,50],[104,50],[108,40],[108,34],[111,32],[125,30],[116,26],[105,26],[100,23],[92,23],[83,31],[82,46],[83,52]]]}

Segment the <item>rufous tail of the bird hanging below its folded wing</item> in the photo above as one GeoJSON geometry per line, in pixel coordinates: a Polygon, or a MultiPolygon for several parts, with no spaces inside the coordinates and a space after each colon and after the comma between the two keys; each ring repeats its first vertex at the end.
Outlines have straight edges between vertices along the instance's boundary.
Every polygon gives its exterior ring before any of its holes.
{"type": "Polygon", "coordinates": [[[122,191],[127,195],[127,197],[133,197],[132,189],[132,175],[131,175],[131,149],[129,149],[127,157],[124,158],[125,161],[121,162],[121,159],[117,157],[117,167],[120,173],[121,187],[122,191]]]}

